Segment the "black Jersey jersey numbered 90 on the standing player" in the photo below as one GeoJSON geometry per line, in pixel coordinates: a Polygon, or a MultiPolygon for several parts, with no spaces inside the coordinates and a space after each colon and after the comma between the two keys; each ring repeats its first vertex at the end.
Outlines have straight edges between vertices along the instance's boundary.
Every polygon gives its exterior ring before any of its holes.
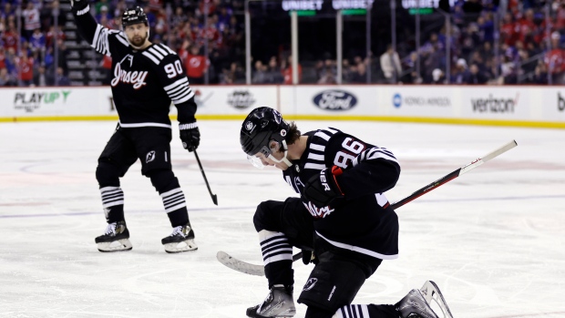
{"type": "Polygon", "coordinates": [[[162,44],[137,50],[122,31],[98,25],[88,10],[73,14],[81,36],[98,53],[112,57],[110,85],[121,127],[170,128],[171,101],[180,122],[195,120],[194,92],[175,52],[162,44]]]}

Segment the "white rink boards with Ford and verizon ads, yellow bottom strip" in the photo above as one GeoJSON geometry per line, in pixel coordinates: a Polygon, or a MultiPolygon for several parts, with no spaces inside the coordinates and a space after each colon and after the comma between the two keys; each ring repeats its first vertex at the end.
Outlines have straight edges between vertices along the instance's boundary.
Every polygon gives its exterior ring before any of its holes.
{"type": "MultiPolygon", "coordinates": [[[[565,128],[565,87],[198,86],[199,119],[241,119],[252,108],[289,119],[385,120],[565,128]]],[[[0,121],[118,118],[110,87],[0,88],[0,121]]],[[[176,108],[171,107],[174,117],[176,108]]]]}

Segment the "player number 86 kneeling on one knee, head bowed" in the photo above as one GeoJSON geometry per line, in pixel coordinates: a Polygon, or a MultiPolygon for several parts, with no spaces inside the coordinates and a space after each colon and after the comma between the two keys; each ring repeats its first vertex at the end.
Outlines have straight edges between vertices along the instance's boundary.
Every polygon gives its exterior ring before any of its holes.
{"type": "Polygon", "coordinates": [[[300,198],[263,201],[253,216],[269,295],[248,317],[292,317],[293,246],[315,264],[298,298],[306,318],[451,317],[437,285],[426,282],[395,304],[351,304],[383,260],[397,258],[398,219],[383,192],[395,186],[393,153],[335,128],[301,135],[272,108],[256,108],[241,125],[241,148],[258,168],[282,169],[300,198]]]}

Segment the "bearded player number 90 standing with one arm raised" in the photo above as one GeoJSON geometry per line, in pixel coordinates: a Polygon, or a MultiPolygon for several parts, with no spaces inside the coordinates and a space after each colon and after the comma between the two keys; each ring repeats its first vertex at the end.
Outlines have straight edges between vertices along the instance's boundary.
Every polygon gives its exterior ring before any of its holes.
{"type": "Polygon", "coordinates": [[[161,242],[165,251],[196,250],[184,194],[170,164],[170,102],[179,112],[182,146],[198,148],[196,104],[179,56],[168,46],[149,42],[149,22],[139,6],[122,15],[123,31],[98,25],[86,0],[74,0],[72,12],[80,35],[98,53],[112,57],[111,79],[118,128],[98,158],[96,177],[108,227],[98,236],[98,251],[131,250],[119,178],[137,160],[163,200],[173,231],[161,242]]]}

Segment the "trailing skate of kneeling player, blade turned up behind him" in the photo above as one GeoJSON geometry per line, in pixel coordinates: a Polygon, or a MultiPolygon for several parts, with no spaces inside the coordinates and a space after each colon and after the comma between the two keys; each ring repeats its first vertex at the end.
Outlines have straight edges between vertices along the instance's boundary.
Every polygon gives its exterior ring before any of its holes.
{"type": "Polygon", "coordinates": [[[421,290],[413,289],[408,292],[395,307],[401,318],[453,318],[437,284],[431,281],[425,282],[421,290]],[[432,300],[439,306],[442,317],[437,316],[430,306],[432,300]]]}

